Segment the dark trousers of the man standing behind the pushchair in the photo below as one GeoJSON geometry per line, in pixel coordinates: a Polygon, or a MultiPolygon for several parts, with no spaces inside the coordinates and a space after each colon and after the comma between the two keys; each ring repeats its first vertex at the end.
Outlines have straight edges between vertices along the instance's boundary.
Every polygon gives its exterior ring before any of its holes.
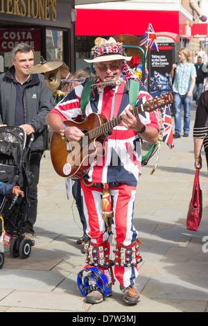
{"type": "Polygon", "coordinates": [[[40,160],[42,158],[42,153],[40,151],[31,152],[31,157],[29,160],[30,170],[34,175],[33,183],[29,189],[28,198],[30,201],[30,207],[28,207],[28,216],[26,222],[22,225],[22,233],[32,233],[34,234],[33,226],[37,219],[37,185],[40,176],[40,160]]]}

